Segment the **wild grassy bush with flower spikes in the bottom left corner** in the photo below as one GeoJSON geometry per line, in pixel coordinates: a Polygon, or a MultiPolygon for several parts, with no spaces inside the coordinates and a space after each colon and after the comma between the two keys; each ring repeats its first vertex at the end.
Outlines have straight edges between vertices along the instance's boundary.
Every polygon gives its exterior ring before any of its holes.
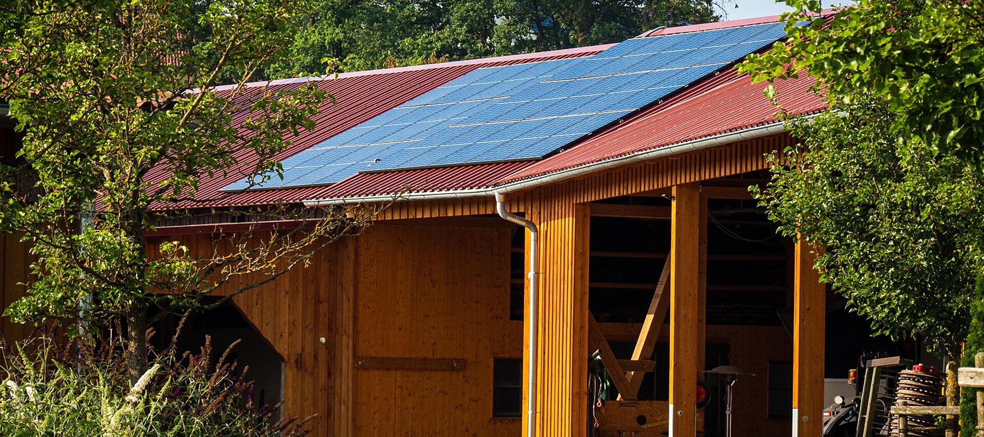
{"type": "MultiPolygon", "coordinates": [[[[233,345],[229,346],[231,349],[233,345]]],[[[119,344],[59,345],[35,336],[2,344],[0,435],[3,436],[301,436],[308,419],[274,420],[278,406],[254,406],[247,368],[210,363],[210,340],[198,355],[169,353],[130,385],[119,344]]]]}

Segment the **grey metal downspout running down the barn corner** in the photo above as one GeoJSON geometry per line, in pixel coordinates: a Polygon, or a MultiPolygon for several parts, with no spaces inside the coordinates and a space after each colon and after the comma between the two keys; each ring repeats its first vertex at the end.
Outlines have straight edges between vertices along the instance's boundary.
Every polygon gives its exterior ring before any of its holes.
{"type": "Polygon", "coordinates": [[[537,296],[536,296],[536,224],[525,218],[517,216],[513,213],[506,211],[505,202],[505,191],[495,192],[495,209],[499,213],[499,217],[505,218],[516,224],[519,224],[526,229],[529,229],[529,273],[526,277],[529,278],[529,360],[526,364],[526,403],[528,405],[526,411],[526,437],[533,437],[536,418],[536,335],[537,335],[537,320],[536,320],[536,310],[537,310],[537,296]]]}

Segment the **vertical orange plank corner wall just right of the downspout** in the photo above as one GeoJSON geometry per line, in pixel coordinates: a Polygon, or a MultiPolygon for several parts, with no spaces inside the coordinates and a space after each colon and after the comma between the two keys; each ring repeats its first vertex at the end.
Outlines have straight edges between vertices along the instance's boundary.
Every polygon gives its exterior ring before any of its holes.
{"type": "Polygon", "coordinates": [[[589,205],[554,189],[534,198],[526,211],[539,229],[536,431],[584,436],[589,205]]]}

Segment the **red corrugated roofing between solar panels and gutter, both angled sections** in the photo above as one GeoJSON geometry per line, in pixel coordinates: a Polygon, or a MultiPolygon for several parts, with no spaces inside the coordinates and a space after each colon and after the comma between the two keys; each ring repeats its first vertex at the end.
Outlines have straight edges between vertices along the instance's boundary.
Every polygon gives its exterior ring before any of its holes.
{"type": "MultiPolygon", "coordinates": [[[[815,83],[813,78],[803,75],[795,80],[778,81],[773,87],[790,113],[809,114],[826,108],[824,99],[810,91],[815,83]]],[[[488,188],[618,156],[766,125],[778,121],[775,107],[763,94],[767,85],[752,84],[748,76],[739,75],[733,70],[722,73],[560,154],[539,161],[523,162],[522,165],[518,163],[515,171],[498,180],[480,176],[476,167],[483,165],[363,173],[310,199],[390,195],[407,187],[412,192],[488,188]],[[440,180],[440,183],[425,184],[422,182],[425,180],[440,180]]],[[[501,167],[503,172],[507,169],[501,167]]]]}

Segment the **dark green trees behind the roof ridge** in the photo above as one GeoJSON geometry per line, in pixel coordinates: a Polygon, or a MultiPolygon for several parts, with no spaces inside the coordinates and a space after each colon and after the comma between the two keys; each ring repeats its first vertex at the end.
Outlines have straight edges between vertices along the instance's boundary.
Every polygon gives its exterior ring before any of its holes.
{"type": "Polygon", "coordinates": [[[717,21],[711,0],[316,0],[271,77],[472,59],[621,41],[717,21]]]}

